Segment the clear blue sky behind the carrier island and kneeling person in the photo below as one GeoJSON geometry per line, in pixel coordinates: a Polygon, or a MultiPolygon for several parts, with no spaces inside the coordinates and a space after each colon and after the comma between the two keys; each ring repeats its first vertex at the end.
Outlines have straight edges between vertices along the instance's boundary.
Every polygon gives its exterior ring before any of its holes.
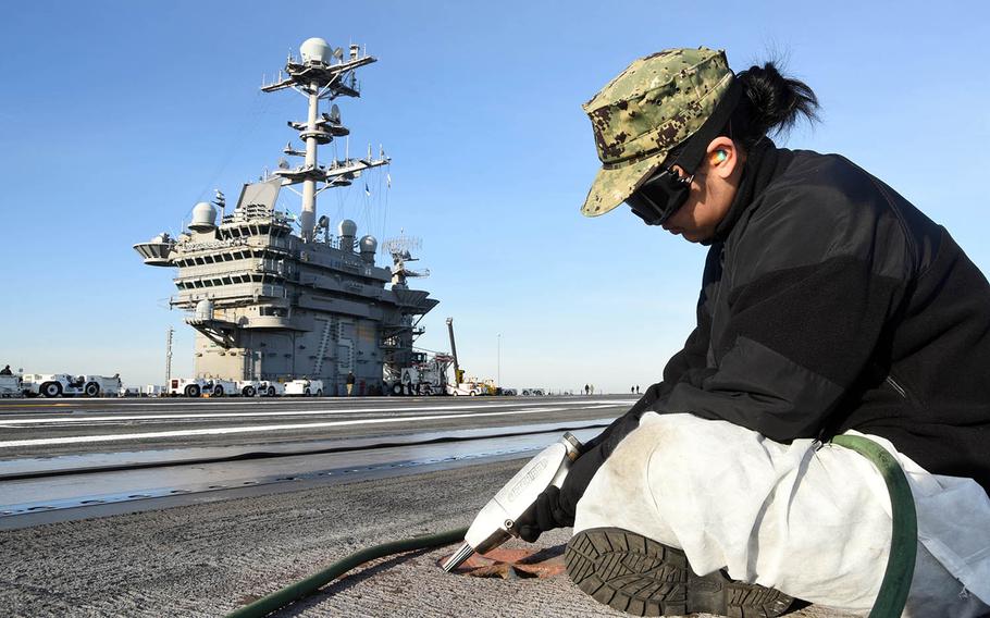
{"type": "Polygon", "coordinates": [[[453,316],[469,374],[628,392],[692,329],[705,249],[578,212],[598,165],[580,104],[669,47],[784,59],[822,122],[778,144],[856,161],[987,272],[988,24],[979,2],[21,4],[0,24],[0,363],[160,382],[172,324],[191,372],[173,271],[131,246],[274,168],[304,101],[258,87],[311,36],[379,58],[339,106],[351,152],[393,157],[391,189],[369,175],[321,213],[422,238],[441,305],[420,344],[446,349],[453,316]]]}

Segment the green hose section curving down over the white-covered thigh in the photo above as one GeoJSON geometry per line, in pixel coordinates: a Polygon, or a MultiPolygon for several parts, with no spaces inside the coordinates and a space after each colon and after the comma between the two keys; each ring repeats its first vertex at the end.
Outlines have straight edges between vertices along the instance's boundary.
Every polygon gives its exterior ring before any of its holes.
{"type": "Polygon", "coordinates": [[[859,435],[837,435],[832,444],[844,446],[863,455],[877,467],[887,482],[893,524],[890,537],[890,557],[880,592],[869,611],[869,618],[896,618],[904,611],[911,580],[914,577],[918,551],[918,519],[907,477],[898,460],[876,442],[859,435]]]}

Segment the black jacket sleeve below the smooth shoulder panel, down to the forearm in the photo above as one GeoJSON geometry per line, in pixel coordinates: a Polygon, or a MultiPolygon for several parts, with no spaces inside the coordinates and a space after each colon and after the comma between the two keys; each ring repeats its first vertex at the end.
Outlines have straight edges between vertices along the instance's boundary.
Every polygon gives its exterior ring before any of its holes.
{"type": "Polygon", "coordinates": [[[778,442],[816,436],[875,354],[900,293],[855,258],[775,271],[732,292],[717,367],[655,407],[778,442]]]}

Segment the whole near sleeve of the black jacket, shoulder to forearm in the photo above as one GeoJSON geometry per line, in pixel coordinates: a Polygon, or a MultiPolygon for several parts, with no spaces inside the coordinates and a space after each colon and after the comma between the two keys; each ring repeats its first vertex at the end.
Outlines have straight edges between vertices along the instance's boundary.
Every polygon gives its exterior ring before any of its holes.
{"type": "Polygon", "coordinates": [[[726,242],[714,362],[651,409],[789,442],[818,435],[882,359],[912,261],[899,219],[862,185],[770,193],[726,242]]]}

